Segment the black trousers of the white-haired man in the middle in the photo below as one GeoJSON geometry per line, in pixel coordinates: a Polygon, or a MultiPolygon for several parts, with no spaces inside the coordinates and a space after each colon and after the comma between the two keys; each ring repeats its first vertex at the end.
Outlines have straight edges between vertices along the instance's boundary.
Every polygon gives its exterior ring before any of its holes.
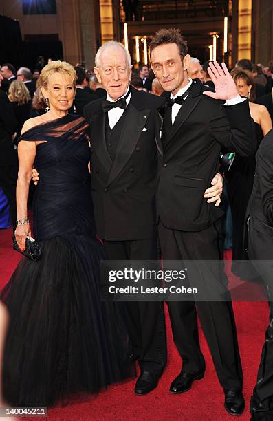
{"type": "MultiPolygon", "coordinates": [[[[157,260],[157,241],[104,241],[110,260],[157,260]]],[[[166,327],[164,305],[160,302],[122,303],[133,354],[140,369],[162,372],[166,365],[166,327]]]]}

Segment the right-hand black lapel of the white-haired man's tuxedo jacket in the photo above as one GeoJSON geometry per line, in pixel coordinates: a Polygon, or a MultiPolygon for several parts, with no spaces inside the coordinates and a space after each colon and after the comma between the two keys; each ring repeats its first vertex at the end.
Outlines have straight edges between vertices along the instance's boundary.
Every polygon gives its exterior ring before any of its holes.
{"type": "Polygon", "coordinates": [[[142,134],[142,129],[145,126],[149,116],[149,109],[142,109],[138,111],[132,101],[129,102],[126,111],[126,118],[124,119],[124,126],[118,144],[116,158],[111,166],[111,171],[108,176],[107,185],[109,185],[122,171],[124,165],[129,160],[136,144],[142,134]]]}

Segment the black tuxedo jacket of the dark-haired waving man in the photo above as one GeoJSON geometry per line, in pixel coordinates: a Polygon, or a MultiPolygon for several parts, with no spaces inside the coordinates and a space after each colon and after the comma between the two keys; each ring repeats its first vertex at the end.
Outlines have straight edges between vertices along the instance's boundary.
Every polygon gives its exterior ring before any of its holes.
{"type": "Polygon", "coordinates": [[[203,198],[217,172],[221,148],[243,156],[256,151],[248,100],[223,105],[203,95],[208,88],[199,80],[193,83],[160,146],[158,216],[166,227],[183,231],[203,230],[222,215],[203,198]]]}

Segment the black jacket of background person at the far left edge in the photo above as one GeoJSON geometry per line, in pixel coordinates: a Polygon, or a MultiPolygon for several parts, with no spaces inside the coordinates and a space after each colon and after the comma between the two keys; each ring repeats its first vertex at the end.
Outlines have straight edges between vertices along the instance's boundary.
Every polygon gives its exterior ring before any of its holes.
{"type": "Polygon", "coordinates": [[[14,148],[11,135],[17,131],[12,106],[7,94],[0,91],[0,166],[10,166],[13,163],[14,148]]]}

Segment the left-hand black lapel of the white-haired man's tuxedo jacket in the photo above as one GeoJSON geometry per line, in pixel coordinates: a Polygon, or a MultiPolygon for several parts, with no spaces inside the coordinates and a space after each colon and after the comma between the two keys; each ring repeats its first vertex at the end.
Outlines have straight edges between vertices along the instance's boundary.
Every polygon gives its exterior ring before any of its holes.
{"type": "MultiPolygon", "coordinates": [[[[94,147],[96,148],[96,154],[98,155],[98,159],[102,163],[102,165],[107,170],[107,173],[110,172],[112,161],[109,156],[109,153],[107,151],[106,147],[106,140],[105,140],[105,125],[107,122],[107,113],[104,113],[101,111],[99,114],[97,114],[96,121],[94,121],[92,124],[94,125],[95,130],[95,136],[94,136],[94,147]]],[[[92,143],[92,139],[91,139],[92,143]]]]}

